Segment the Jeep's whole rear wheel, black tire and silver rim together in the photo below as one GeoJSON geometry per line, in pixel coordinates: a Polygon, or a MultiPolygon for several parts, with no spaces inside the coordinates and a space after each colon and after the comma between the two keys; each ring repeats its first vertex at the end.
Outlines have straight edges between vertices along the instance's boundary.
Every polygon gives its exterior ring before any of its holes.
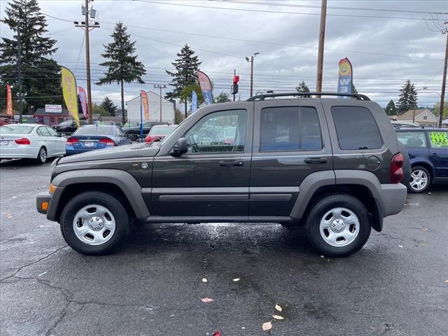
{"type": "Polygon", "coordinates": [[[311,245],[328,257],[343,257],[360,250],[370,236],[367,209],[355,197],[332,194],[309,211],[307,232],[311,245]]]}

